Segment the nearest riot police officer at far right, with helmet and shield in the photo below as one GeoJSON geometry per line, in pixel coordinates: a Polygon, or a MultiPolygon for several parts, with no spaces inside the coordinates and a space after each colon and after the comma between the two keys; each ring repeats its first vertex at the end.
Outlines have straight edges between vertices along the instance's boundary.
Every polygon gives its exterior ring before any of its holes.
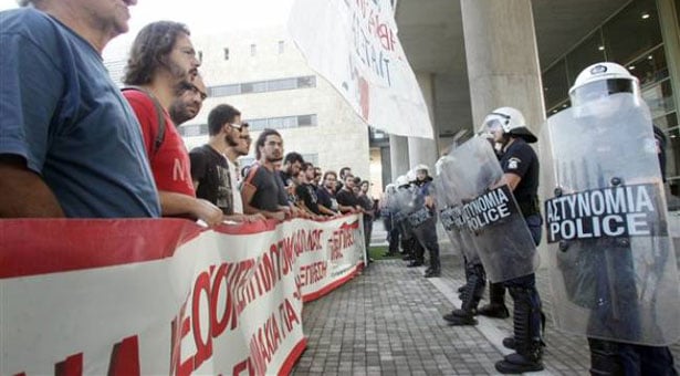
{"type": "Polygon", "coordinates": [[[598,63],[577,76],[569,96],[573,107],[546,125],[555,170],[547,238],[553,285],[565,295],[555,296],[557,326],[588,337],[593,375],[677,375],[666,344],[680,334],[678,274],[638,80],[621,65],[598,63]],[[600,195],[627,205],[596,216],[588,198],[600,195]],[[564,200],[583,206],[564,208],[564,200]],[[573,223],[580,230],[572,233],[573,223]]]}

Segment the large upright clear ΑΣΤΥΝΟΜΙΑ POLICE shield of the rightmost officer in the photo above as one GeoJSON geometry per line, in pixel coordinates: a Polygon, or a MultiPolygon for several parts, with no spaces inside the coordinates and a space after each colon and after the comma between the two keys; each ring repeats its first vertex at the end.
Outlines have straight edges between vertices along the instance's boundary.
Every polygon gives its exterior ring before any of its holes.
{"type": "Polygon", "coordinates": [[[617,342],[674,343],[678,271],[648,108],[616,94],[565,109],[543,130],[557,327],[617,342]]]}

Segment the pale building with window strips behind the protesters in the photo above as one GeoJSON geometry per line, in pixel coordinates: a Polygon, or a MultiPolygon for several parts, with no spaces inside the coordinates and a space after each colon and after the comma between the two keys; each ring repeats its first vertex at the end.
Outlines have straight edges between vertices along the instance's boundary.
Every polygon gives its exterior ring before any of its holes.
{"type": "MultiPolygon", "coordinates": [[[[297,152],[323,170],[352,167],[356,176],[381,187],[381,165],[370,165],[367,126],[307,66],[284,28],[191,35],[191,41],[208,98],[200,113],[179,127],[188,149],[208,142],[208,114],[227,103],[242,113],[253,139],[262,129],[274,128],[283,136],[285,153],[297,152]]],[[[119,83],[125,58],[112,58],[106,65],[119,83]]],[[[253,160],[254,145],[241,165],[253,160]]]]}

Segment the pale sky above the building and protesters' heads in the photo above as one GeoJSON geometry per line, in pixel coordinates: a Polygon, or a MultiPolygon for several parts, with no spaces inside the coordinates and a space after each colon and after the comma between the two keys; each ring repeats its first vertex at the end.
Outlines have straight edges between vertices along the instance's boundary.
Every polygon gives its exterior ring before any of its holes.
{"type": "MultiPolygon", "coordinates": [[[[138,0],[130,7],[130,30],[114,39],[104,55],[115,54],[145,24],[170,20],[187,24],[192,35],[230,30],[283,25],[293,0],[138,0]]],[[[0,0],[0,10],[18,8],[15,0],[0,0]]]]}

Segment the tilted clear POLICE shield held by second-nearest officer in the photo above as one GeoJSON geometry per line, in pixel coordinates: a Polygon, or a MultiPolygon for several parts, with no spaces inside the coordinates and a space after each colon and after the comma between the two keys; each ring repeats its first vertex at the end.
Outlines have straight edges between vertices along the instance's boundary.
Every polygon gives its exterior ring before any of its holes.
{"type": "Polygon", "coordinates": [[[462,216],[492,282],[533,273],[538,253],[491,144],[473,137],[453,152],[448,176],[464,181],[462,216]]]}

